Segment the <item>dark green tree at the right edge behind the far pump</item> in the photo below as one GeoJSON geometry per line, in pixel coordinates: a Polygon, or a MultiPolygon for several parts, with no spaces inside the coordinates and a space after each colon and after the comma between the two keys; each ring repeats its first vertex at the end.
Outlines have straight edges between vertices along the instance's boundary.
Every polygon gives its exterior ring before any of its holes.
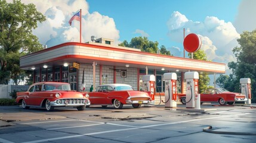
{"type": "Polygon", "coordinates": [[[256,90],[254,90],[256,86],[256,30],[243,32],[238,43],[240,46],[233,48],[233,54],[237,61],[228,64],[233,73],[229,77],[220,76],[217,80],[223,82],[221,85],[229,91],[240,92],[240,79],[250,78],[252,102],[256,102],[256,90]]]}

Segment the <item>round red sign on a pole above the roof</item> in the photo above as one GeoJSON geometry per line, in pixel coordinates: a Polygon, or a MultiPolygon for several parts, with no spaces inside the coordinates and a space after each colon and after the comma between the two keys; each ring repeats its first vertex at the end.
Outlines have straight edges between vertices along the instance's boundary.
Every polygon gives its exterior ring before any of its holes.
{"type": "Polygon", "coordinates": [[[183,42],[184,49],[187,52],[196,52],[201,48],[202,42],[198,35],[190,33],[183,42]]]}

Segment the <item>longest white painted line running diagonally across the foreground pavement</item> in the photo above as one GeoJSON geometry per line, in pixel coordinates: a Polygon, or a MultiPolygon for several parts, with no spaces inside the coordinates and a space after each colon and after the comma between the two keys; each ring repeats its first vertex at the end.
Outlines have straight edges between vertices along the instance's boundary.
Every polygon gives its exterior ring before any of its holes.
{"type": "MultiPolygon", "coordinates": [[[[134,129],[155,127],[155,126],[165,126],[165,125],[172,125],[172,124],[177,124],[177,123],[186,123],[186,122],[193,122],[193,121],[199,121],[199,120],[215,119],[215,118],[219,118],[219,117],[240,116],[240,115],[245,115],[245,114],[250,114],[250,113],[228,115],[228,116],[218,116],[218,117],[209,117],[209,118],[205,118],[205,119],[193,119],[193,120],[186,120],[186,121],[174,122],[174,123],[164,123],[164,124],[158,124],[158,125],[141,126],[141,127],[137,127],[137,128],[107,130],[107,131],[102,131],[102,132],[85,133],[85,134],[82,134],[82,135],[72,135],[72,136],[63,136],[63,137],[58,137],[58,138],[39,139],[39,140],[36,140],[36,141],[29,141],[29,142],[23,142],[23,143],[47,142],[47,141],[54,141],[54,140],[58,140],[58,139],[76,138],[76,137],[87,136],[87,135],[98,135],[98,134],[102,134],[102,133],[120,132],[120,131],[124,131],[124,130],[134,130],[134,129]]],[[[113,125],[115,125],[115,124],[113,124],[113,125]]]]}

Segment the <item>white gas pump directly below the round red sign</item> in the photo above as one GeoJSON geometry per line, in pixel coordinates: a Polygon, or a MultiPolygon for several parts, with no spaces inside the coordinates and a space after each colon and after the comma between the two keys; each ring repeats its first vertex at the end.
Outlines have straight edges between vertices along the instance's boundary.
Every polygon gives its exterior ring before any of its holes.
{"type": "Polygon", "coordinates": [[[200,94],[198,94],[198,79],[199,74],[197,71],[189,71],[184,75],[186,79],[186,107],[200,109],[200,94]]]}

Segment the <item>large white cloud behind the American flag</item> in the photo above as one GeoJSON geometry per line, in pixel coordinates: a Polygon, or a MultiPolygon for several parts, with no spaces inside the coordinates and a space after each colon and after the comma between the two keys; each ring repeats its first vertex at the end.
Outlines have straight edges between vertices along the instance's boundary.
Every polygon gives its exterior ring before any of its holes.
{"type": "Polygon", "coordinates": [[[37,10],[47,18],[43,23],[38,23],[38,28],[33,30],[42,45],[47,44],[50,47],[63,42],[79,42],[79,21],[73,21],[72,26],[69,26],[68,21],[80,9],[82,9],[82,42],[90,41],[92,35],[119,42],[119,30],[116,29],[113,18],[98,12],[90,14],[89,5],[85,0],[21,0],[21,2],[35,4],[37,10]]]}

